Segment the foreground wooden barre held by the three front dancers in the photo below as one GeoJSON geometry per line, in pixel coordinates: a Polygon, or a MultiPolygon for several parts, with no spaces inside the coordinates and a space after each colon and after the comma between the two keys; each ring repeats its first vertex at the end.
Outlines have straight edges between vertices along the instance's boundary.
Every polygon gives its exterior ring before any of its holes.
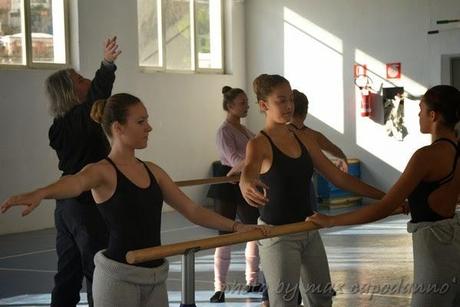
{"type": "Polygon", "coordinates": [[[126,261],[129,264],[136,264],[151,261],[154,259],[182,255],[187,250],[205,250],[215,247],[232,245],[242,242],[255,241],[281,235],[304,232],[308,230],[318,229],[319,227],[312,222],[299,222],[286,225],[275,226],[271,228],[270,235],[265,236],[259,229],[248,232],[230,233],[220,236],[215,236],[207,239],[192,240],[187,242],[166,244],[162,246],[149,247],[129,251],[126,254],[126,261]]]}

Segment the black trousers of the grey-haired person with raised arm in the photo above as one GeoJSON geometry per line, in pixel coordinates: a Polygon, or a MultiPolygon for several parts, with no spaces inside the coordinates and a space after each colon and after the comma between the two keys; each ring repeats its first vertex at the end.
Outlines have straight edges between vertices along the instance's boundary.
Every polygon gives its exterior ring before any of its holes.
{"type": "Polygon", "coordinates": [[[108,231],[91,196],[56,201],[58,271],[51,306],[76,306],[86,278],[88,304],[93,306],[94,255],[107,248],[108,231]]]}

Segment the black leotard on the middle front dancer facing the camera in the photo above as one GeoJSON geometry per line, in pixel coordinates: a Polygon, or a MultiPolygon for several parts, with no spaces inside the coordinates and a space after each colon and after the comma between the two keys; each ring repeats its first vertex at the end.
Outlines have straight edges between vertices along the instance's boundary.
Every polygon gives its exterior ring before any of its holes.
{"type": "Polygon", "coordinates": [[[260,175],[260,179],[269,187],[269,201],[260,209],[260,218],[271,225],[304,221],[313,214],[310,206],[310,181],[313,173],[310,154],[295,133],[294,137],[301,149],[298,158],[285,155],[264,131],[261,133],[270,142],[273,161],[268,172],[260,175]]]}

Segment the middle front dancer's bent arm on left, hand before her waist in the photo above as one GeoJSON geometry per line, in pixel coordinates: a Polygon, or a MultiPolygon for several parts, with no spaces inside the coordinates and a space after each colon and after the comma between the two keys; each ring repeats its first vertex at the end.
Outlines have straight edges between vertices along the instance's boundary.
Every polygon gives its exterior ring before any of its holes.
{"type": "Polygon", "coordinates": [[[246,146],[246,159],[241,173],[240,189],[244,199],[254,207],[262,207],[268,201],[265,193],[265,189],[268,187],[259,179],[262,163],[265,159],[264,152],[267,152],[266,147],[267,144],[261,137],[250,140],[246,146]]]}

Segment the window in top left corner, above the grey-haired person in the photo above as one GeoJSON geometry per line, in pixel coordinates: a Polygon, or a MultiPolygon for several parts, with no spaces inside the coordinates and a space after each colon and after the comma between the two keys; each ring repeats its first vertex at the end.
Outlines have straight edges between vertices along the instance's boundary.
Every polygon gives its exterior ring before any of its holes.
{"type": "Polygon", "coordinates": [[[66,0],[0,0],[0,66],[67,63],[66,0]]]}

